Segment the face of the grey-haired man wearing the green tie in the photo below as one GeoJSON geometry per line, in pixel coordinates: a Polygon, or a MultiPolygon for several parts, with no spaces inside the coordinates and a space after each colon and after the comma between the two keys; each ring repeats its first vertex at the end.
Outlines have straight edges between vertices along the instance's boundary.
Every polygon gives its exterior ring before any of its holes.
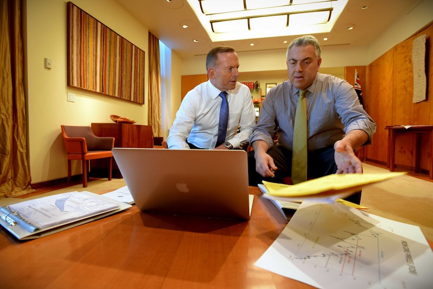
{"type": "Polygon", "coordinates": [[[305,89],[317,76],[321,58],[317,59],[314,46],[293,46],[287,55],[289,79],[297,89],[305,89]]]}

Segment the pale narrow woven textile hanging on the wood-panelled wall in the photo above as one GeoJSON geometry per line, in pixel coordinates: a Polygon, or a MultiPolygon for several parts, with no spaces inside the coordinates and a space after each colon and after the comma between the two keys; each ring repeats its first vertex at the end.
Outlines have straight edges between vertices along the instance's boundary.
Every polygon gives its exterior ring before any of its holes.
{"type": "Polygon", "coordinates": [[[427,77],[425,75],[425,34],[413,39],[412,44],[413,64],[413,99],[412,103],[425,100],[427,77]]]}

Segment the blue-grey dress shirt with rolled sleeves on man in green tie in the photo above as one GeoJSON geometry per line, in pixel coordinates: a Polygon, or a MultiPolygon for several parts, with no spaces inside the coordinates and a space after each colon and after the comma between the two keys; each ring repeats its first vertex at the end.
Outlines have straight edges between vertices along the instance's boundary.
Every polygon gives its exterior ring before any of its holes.
{"type": "MultiPolygon", "coordinates": [[[[268,92],[250,143],[263,140],[271,147],[278,131],[278,144],[292,150],[297,92],[289,80],[268,92]]],[[[346,80],[317,73],[314,82],[307,87],[305,100],[309,151],[333,146],[346,133],[356,129],[368,134],[365,144],[371,143],[376,124],[364,111],[355,89],[346,80]]]]}

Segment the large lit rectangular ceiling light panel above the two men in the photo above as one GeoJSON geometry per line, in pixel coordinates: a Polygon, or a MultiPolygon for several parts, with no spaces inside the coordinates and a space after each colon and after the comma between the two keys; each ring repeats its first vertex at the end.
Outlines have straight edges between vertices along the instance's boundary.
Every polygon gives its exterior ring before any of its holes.
{"type": "Polygon", "coordinates": [[[348,1],[186,0],[212,42],[329,33],[348,1]]]}

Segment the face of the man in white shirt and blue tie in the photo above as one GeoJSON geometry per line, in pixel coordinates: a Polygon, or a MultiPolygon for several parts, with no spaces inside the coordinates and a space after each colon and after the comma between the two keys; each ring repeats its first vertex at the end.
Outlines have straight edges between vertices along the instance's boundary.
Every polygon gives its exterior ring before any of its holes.
{"type": "Polygon", "coordinates": [[[208,70],[210,82],[221,91],[235,89],[239,76],[239,60],[235,52],[218,54],[216,67],[208,70]]]}

